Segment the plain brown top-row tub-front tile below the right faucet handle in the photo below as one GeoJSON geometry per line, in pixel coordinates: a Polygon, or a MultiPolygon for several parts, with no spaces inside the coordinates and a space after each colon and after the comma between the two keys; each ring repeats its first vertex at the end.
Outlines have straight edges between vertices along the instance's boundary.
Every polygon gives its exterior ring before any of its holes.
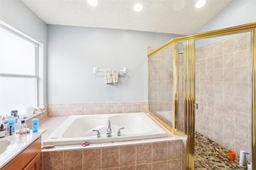
{"type": "Polygon", "coordinates": [[[136,164],[136,145],[120,146],[119,166],[136,164]]]}

